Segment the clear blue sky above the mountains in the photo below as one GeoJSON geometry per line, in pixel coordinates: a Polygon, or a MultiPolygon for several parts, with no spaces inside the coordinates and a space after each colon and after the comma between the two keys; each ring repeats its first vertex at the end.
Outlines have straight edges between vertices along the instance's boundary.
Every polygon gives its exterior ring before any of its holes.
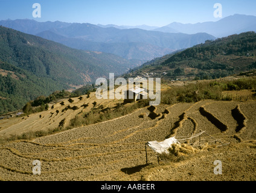
{"type": "Polygon", "coordinates": [[[256,16],[254,0],[0,0],[0,20],[34,19],[91,24],[150,25],[171,22],[195,24],[218,21],[214,4],[222,4],[222,17],[232,14],[256,16]],[[34,18],[32,5],[41,5],[41,17],[34,18]]]}

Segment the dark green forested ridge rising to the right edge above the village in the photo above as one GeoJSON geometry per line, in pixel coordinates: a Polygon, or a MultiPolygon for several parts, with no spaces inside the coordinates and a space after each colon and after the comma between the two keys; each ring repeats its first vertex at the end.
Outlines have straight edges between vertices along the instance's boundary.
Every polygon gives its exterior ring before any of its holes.
{"type": "Polygon", "coordinates": [[[176,54],[165,55],[142,65],[130,75],[155,72],[155,75],[161,75],[163,78],[211,79],[254,68],[256,68],[256,33],[252,31],[214,41],[208,40],[176,54]]]}

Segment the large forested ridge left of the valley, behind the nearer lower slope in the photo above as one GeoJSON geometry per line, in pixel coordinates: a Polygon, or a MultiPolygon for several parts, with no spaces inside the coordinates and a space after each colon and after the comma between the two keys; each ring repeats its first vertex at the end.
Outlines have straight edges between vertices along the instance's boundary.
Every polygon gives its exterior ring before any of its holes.
{"type": "Polygon", "coordinates": [[[66,85],[93,82],[109,72],[121,74],[132,68],[132,62],[117,55],[72,49],[5,27],[0,27],[0,45],[1,61],[66,85]]]}

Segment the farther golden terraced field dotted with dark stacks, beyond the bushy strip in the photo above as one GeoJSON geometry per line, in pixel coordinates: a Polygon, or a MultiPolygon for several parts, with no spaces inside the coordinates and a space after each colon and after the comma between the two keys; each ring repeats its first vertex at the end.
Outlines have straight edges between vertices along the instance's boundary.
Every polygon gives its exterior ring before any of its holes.
{"type": "Polygon", "coordinates": [[[83,95],[82,98],[72,98],[59,101],[58,103],[50,104],[48,111],[34,113],[29,116],[14,118],[11,120],[5,119],[1,122],[0,136],[10,136],[11,134],[22,134],[25,131],[40,131],[49,130],[69,125],[69,121],[78,113],[89,112],[94,107],[94,102],[97,101],[97,106],[104,103],[105,107],[114,106],[118,103],[117,100],[98,100],[95,93],[87,98],[83,95]]]}

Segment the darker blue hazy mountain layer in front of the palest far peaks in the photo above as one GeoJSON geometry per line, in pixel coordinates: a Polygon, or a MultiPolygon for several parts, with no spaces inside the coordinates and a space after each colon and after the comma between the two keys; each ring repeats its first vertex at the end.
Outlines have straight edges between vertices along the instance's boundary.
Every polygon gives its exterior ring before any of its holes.
{"type": "Polygon", "coordinates": [[[71,48],[112,53],[124,59],[136,59],[137,62],[141,60],[138,64],[177,49],[203,43],[205,40],[216,39],[206,33],[162,33],[139,28],[121,30],[109,26],[59,21],[36,22],[29,19],[0,21],[0,25],[53,40],[71,48]]]}

